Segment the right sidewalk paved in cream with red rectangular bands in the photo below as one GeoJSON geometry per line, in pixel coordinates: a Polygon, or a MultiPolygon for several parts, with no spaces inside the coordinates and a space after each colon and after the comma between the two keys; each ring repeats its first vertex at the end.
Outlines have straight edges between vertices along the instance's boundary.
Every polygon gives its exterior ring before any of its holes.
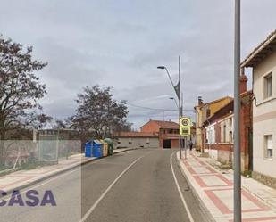
{"type": "MultiPolygon", "coordinates": [[[[215,221],[232,222],[233,171],[215,169],[210,159],[187,153],[187,160],[178,160],[194,193],[215,221]]],[[[242,177],[242,217],[245,222],[276,222],[276,190],[242,177]]]]}

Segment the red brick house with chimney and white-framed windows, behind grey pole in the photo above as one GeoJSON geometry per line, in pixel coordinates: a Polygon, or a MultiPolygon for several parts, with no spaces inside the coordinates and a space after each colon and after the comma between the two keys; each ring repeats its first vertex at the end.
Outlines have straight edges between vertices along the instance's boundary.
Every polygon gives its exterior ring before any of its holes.
{"type": "MultiPolygon", "coordinates": [[[[240,152],[241,170],[252,169],[252,91],[247,91],[247,77],[240,76],[240,152]]],[[[230,100],[204,122],[204,149],[214,160],[232,165],[234,101],[230,100]]]]}

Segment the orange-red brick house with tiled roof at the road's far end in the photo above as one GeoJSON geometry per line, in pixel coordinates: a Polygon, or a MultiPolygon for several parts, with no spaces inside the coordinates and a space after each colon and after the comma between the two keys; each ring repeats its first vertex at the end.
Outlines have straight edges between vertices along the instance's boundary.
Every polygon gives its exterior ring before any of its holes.
{"type": "Polygon", "coordinates": [[[154,133],[159,136],[159,147],[177,148],[179,146],[179,124],[172,121],[150,119],[141,127],[141,132],[154,133]]]}

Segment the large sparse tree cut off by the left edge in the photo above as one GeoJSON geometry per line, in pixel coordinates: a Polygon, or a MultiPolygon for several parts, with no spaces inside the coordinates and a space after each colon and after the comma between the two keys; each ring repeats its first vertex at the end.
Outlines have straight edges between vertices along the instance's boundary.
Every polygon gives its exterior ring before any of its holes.
{"type": "Polygon", "coordinates": [[[46,94],[46,86],[34,74],[45,66],[32,59],[32,47],[0,36],[0,165],[4,164],[6,132],[21,127],[22,119],[46,94]]]}

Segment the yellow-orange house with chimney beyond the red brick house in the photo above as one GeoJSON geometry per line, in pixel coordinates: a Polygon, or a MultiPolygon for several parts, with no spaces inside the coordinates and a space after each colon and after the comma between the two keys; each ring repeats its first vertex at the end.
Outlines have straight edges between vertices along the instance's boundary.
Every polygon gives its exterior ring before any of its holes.
{"type": "Polygon", "coordinates": [[[203,103],[202,97],[198,97],[196,111],[196,149],[204,152],[204,122],[206,119],[213,116],[216,111],[219,111],[227,103],[230,103],[230,96],[222,97],[209,103],[203,103]]]}

